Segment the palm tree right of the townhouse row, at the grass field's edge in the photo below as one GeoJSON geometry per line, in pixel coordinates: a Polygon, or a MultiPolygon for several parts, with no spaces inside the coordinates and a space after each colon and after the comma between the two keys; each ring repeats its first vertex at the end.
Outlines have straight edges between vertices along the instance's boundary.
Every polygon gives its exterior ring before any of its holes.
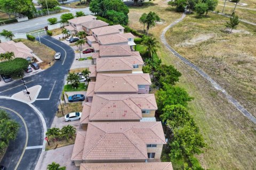
{"type": "Polygon", "coordinates": [[[144,38],[142,44],[146,46],[149,57],[152,57],[153,54],[156,54],[157,48],[159,48],[159,42],[156,40],[156,38],[152,37],[144,38]]]}

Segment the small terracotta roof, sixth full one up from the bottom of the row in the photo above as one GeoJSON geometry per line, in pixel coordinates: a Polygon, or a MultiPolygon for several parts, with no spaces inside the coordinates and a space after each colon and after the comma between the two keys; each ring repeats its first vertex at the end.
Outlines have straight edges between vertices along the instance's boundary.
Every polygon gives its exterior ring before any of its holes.
{"type": "Polygon", "coordinates": [[[99,36],[98,40],[99,43],[102,45],[111,45],[111,44],[118,44],[118,43],[127,43],[127,38],[121,36],[122,34],[112,34],[106,36],[99,36]]]}

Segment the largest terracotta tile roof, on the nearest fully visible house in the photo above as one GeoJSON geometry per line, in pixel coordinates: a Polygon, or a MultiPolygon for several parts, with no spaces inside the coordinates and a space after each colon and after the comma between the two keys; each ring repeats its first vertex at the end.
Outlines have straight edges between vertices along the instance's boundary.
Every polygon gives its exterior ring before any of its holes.
{"type": "Polygon", "coordinates": [[[147,159],[147,144],[165,144],[161,122],[90,122],[83,160],[147,159]]]}

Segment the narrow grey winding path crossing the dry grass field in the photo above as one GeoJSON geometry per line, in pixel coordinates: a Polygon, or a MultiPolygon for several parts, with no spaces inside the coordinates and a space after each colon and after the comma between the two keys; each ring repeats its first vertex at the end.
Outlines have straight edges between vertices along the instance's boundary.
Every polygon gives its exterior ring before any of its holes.
{"type": "Polygon", "coordinates": [[[191,68],[193,68],[195,71],[197,71],[199,74],[202,75],[203,78],[209,80],[212,84],[212,86],[217,89],[220,90],[222,92],[223,95],[226,96],[226,98],[228,99],[228,101],[230,103],[232,103],[244,116],[246,116],[247,118],[249,118],[249,120],[251,120],[254,124],[256,124],[256,118],[250,113],[248,112],[241,104],[239,104],[239,102],[234,99],[232,96],[230,96],[227,91],[225,89],[223,89],[216,81],[214,81],[208,74],[206,74],[203,70],[201,70],[199,67],[197,67],[195,64],[191,63],[189,60],[187,60],[185,57],[182,57],[179,53],[177,53],[166,41],[165,39],[165,33],[167,30],[169,30],[171,27],[173,27],[175,24],[177,24],[178,22],[182,21],[186,16],[186,12],[184,12],[181,16],[181,18],[179,18],[178,20],[172,22],[170,25],[168,25],[162,32],[161,35],[161,40],[163,42],[163,44],[178,58],[180,58],[180,60],[187,64],[188,66],[190,66],[191,68]]]}

